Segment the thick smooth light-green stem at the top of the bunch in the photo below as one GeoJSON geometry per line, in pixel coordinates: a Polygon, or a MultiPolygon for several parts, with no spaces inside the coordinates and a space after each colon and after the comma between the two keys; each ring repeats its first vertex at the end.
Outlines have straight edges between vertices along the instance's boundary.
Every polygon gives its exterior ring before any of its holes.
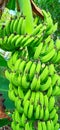
{"type": "Polygon", "coordinates": [[[25,32],[31,34],[33,31],[33,15],[30,0],[18,0],[21,13],[26,18],[25,32]]]}

